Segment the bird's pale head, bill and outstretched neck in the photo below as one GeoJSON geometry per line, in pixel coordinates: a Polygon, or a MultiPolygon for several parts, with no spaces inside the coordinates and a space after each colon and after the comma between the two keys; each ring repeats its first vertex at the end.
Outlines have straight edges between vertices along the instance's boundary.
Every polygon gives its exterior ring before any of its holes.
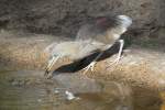
{"type": "MultiPolygon", "coordinates": [[[[48,59],[47,66],[45,68],[45,76],[47,78],[52,77],[50,73],[53,65],[63,57],[68,57],[69,59],[76,62],[88,55],[91,55],[100,47],[100,44],[94,45],[89,41],[65,41],[56,45],[50,45],[52,48],[51,57],[48,59]]],[[[47,48],[46,48],[47,50],[47,48]]]]}

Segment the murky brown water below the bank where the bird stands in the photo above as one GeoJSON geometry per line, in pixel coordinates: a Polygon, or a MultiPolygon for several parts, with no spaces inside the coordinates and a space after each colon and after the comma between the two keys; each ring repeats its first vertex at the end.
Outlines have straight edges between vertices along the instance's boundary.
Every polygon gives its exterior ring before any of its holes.
{"type": "MultiPolygon", "coordinates": [[[[132,88],[127,85],[116,81],[82,80],[86,82],[70,81],[69,86],[73,86],[70,91],[75,91],[76,98],[69,100],[65,94],[68,90],[65,82],[62,86],[58,80],[44,79],[43,72],[1,72],[0,110],[160,110],[160,100],[153,99],[154,103],[148,105],[144,102],[148,101],[145,98],[135,97],[140,99],[138,101],[134,99],[132,88]]],[[[68,87],[68,82],[66,84],[68,87]]]]}

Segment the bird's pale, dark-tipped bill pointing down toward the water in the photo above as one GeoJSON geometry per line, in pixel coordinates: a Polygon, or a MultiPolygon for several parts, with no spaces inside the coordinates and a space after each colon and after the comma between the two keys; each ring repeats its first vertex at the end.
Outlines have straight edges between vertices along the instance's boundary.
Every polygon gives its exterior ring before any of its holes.
{"type": "Polygon", "coordinates": [[[50,61],[48,61],[48,65],[45,68],[45,76],[50,74],[51,68],[53,67],[53,65],[58,61],[59,56],[53,56],[50,61]]]}

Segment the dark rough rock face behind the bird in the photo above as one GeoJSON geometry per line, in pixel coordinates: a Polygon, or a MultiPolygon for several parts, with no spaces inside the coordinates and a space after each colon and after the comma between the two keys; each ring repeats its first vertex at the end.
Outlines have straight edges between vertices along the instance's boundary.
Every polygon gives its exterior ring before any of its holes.
{"type": "Polygon", "coordinates": [[[135,31],[165,26],[164,0],[1,0],[0,26],[73,36],[79,25],[100,14],[133,18],[135,31]]]}

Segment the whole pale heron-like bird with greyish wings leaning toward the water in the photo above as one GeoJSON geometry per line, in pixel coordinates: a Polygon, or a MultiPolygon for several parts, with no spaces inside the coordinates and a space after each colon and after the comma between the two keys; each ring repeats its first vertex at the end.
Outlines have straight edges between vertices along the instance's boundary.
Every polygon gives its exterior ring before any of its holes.
{"type": "Polygon", "coordinates": [[[118,63],[124,45],[124,41],[120,40],[120,36],[131,24],[132,19],[128,15],[107,15],[89,20],[80,26],[74,41],[62,42],[53,47],[51,58],[45,68],[45,75],[51,75],[48,74],[51,68],[61,57],[67,56],[73,61],[78,61],[99,51],[98,56],[85,67],[84,74],[89,68],[94,70],[95,64],[103,52],[110,48],[116,42],[120,43],[118,57],[114,61],[114,63],[118,63]]]}

